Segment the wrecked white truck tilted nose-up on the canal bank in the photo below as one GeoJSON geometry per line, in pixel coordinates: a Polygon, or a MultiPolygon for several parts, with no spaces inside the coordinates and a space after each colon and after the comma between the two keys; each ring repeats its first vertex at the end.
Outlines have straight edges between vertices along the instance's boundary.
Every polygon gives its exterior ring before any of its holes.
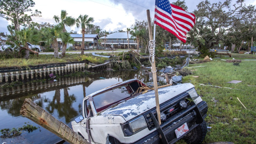
{"type": "Polygon", "coordinates": [[[75,132],[92,143],[201,143],[206,135],[207,103],[191,83],[158,89],[162,124],[157,122],[155,92],[130,79],[83,99],[75,132]],[[159,137],[161,134],[162,139],[159,137]]]}

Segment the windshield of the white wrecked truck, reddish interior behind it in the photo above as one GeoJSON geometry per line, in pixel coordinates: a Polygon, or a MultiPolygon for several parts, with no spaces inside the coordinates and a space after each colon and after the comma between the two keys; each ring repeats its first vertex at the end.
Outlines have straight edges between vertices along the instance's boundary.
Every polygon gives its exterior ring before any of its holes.
{"type": "Polygon", "coordinates": [[[105,107],[113,105],[116,102],[128,97],[130,97],[129,92],[127,91],[126,87],[122,86],[108,92],[96,95],[95,97],[93,97],[93,102],[97,112],[99,112],[105,109],[105,107]]]}

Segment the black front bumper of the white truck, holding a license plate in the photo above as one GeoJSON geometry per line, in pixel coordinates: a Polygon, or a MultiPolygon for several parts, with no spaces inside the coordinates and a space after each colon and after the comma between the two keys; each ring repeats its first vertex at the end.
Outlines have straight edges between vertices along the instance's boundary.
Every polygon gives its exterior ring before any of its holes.
{"type": "Polygon", "coordinates": [[[178,115],[177,117],[170,119],[169,122],[162,124],[159,127],[156,126],[156,129],[154,129],[155,130],[154,132],[150,133],[146,137],[144,137],[134,143],[136,143],[136,144],[139,144],[139,143],[140,144],[141,143],[145,143],[145,144],[165,143],[159,137],[159,133],[161,133],[159,131],[161,131],[161,130],[162,130],[163,134],[165,135],[166,140],[168,141],[167,143],[177,142],[178,140],[182,139],[183,136],[186,135],[186,133],[184,135],[182,135],[180,138],[177,138],[175,135],[175,130],[178,129],[178,127],[180,127],[182,124],[187,123],[188,128],[189,128],[189,131],[187,133],[189,133],[198,124],[202,123],[201,120],[206,117],[206,113],[207,113],[207,103],[205,101],[202,101],[202,102],[198,103],[196,108],[195,107],[191,108],[190,112],[186,116],[182,117],[182,114],[181,114],[181,115],[178,115]],[[198,114],[198,113],[200,113],[200,114],[198,114]],[[198,121],[200,121],[200,123],[198,123],[198,121]],[[167,126],[167,128],[166,128],[166,126],[167,126]],[[165,127],[164,130],[163,130],[163,127],[165,127]],[[161,129],[161,130],[159,130],[159,129],[161,129]]]}

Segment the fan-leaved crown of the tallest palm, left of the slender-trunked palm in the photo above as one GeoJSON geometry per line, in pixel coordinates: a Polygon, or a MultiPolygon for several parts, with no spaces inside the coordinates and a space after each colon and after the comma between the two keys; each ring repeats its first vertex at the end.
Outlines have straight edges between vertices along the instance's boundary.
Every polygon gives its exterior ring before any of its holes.
{"type": "MultiPolygon", "coordinates": [[[[59,25],[62,27],[62,32],[67,32],[65,26],[71,27],[74,26],[76,23],[76,19],[72,17],[68,17],[68,13],[66,10],[61,10],[60,17],[58,15],[54,15],[53,19],[59,23],[59,25]]],[[[65,44],[62,43],[61,48],[63,49],[63,46],[65,44]]],[[[67,44],[65,45],[67,47],[67,44]]],[[[66,52],[66,51],[65,51],[66,52]]]]}

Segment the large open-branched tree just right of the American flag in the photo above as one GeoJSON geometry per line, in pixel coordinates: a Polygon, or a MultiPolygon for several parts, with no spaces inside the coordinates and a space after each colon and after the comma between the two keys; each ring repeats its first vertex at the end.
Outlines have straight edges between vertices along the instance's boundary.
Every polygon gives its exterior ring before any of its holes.
{"type": "Polygon", "coordinates": [[[196,24],[190,30],[191,41],[196,41],[198,51],[209,52],[214,45],[218,45],[223,40],[223,36],[232,28],[233,23],[242,19],[241,9],[244,0],[236,1],[231,5],[231,0],[224,2],[210,3],[203,1],[197,5],[196,24]]]}

